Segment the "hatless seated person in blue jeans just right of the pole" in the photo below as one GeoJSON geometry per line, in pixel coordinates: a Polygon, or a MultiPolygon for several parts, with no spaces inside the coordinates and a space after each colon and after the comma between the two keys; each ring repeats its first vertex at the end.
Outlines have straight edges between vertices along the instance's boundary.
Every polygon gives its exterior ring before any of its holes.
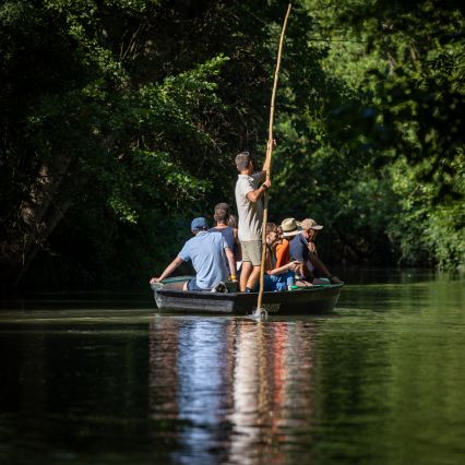
{"type": "Polygon", "coordinates": [[[279,229],[274,223],[266,224],[266,257],[264,290],[287,290],[295,285],[294,270],[298,262],[289,262],[276,267],[276,257],[273,247],[281,241],[279,229]]]}

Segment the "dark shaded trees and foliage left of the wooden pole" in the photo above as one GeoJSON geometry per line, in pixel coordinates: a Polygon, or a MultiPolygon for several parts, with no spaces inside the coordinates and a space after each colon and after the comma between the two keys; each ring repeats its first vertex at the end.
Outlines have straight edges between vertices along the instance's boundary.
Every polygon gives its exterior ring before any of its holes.
{"type": "Polygon", "coordinates": [[[132,282],[179,249],[192,215],[231,201],[235,152],[265,144],[283,9],[259,7],[1,7],[2,274],[35,260],[132,282]]]}

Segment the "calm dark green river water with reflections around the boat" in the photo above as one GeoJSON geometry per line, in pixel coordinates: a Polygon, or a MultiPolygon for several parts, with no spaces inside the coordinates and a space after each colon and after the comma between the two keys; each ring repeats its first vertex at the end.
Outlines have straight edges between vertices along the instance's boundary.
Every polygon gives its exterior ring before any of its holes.
{"type": "Polygon", "coordinates": [[[263,322],[3,300],[0,463],[465,463],[465,279],[353,281],[331,315],[263,322]]]}

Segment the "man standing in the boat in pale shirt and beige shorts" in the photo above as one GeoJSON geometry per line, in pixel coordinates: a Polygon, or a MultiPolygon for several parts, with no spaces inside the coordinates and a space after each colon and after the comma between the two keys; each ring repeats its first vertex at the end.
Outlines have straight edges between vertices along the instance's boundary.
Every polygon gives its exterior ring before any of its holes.
{"type": "Polygon", "coordinates": [[[263,165],[260,172],[253,172],[253,159],[249,152],[236,156],[236,167],[239,176],[236,182],[236,204],[239,215],[239,241],[242,249],[242,271],[240,273],[240,290],[250,293],[260,277],[262,263],[262,196],[271,186],[270,180],[263,180],[269,164],[263,165]],[[259,186],[260,182],[263,182],[259,186]]]}

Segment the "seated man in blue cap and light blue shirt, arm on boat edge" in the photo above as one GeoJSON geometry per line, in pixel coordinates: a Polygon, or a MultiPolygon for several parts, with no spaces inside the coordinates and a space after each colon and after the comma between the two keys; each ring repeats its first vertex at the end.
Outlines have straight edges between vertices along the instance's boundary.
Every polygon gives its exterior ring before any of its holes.
{"type": "Polygon", "coordinates": [[[181,263],[189,260],[192,261],[196,275],[186,283],[184,290],[212,290],[219,282],[225,282],[228,277],[226,259],[229,269],[235,270],[234,254],[224,236],[217,231],[208,231],[205,218],[194,218],[191,230],[194,237],[184,243],[178,257],[159,277],[150,281],[151,284],[167,278],[181,263]]]}

